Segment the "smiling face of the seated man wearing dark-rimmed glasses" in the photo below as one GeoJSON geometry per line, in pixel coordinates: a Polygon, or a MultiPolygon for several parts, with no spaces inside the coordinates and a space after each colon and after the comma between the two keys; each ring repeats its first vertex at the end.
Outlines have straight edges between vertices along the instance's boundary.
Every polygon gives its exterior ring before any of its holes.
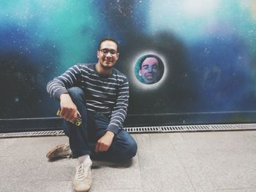
{"type": "Polygon", "coordinates": [[[97,51],[97,58],[99,58],[99,65],[103,69],[111,69],[118,60],[119,53],[117,53],[117,45],[112,41],[102,42],[97,51]]]}

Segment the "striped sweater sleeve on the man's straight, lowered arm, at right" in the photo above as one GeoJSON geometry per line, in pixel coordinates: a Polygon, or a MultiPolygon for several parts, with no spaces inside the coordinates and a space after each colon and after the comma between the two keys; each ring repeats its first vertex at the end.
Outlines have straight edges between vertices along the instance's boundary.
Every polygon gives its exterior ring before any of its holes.
{"type": "Polygon", "coordinates": [[[124,119],[127,116],[128,101],[129,83],[127,78],[125,78],[124,82],[122,82],[118,88],[116,104],[113,107],[107,131],[112,131],[113,133],[117,134],[119,128],[123,127],[124,119]]]}

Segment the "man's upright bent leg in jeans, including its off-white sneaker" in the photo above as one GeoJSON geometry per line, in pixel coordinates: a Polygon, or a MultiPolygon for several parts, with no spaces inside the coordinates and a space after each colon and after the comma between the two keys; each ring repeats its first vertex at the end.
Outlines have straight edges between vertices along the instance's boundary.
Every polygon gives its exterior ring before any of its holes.
{"type": "Polygon", "coordinates": [[[73,186],[75,191],[89,191],[91,188],[91,158],[89,149],[89,118],[86,109],[86,99],[80,88],[69,88],[69,96],[78,108],[82,124],[75,126],[64,120],[64,132],[69,137],[72,157],[78,158],[73,186]]]}

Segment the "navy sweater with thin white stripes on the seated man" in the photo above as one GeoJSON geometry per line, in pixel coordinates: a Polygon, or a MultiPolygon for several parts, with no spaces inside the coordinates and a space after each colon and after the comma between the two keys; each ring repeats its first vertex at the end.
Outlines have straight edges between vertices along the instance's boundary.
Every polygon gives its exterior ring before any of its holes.
{"type": "Polygon", "coordinates": [[[87,110],[100,112],[110,118],[107,130],[115,134],[122,128],[127,115],[129,84],[127,77],[112,69],[106,77],[99,74],[96,64],[77,64],[67,72],[48,82],[47,91],[51,97],[60,100],[67,89],[79,87],[86,97],[87,110]]]}

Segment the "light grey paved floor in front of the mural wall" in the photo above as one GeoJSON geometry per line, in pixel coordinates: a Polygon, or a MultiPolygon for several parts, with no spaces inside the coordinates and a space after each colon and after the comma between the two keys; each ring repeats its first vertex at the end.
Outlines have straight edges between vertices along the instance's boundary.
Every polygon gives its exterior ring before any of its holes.
{"type": "MultiPolygon", "coordinates": [[[[91,191],[255,192],[256,131],[132,134],[131,165],[96,162],[91,191]]],[[[75,159],[45,154],[66,137],[0,139],[0,191],[72,191],[75,159]]]]}

